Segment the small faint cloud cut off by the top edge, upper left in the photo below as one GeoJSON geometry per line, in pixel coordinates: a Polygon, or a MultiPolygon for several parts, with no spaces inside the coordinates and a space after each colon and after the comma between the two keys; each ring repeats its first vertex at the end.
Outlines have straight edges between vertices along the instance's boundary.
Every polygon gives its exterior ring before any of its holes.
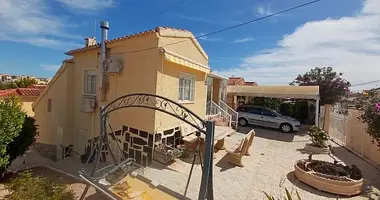
{"type": "Polygon", "coordinates": [[[113,0],[56,0],[68,8],[82,10],[99,10],[114,5],[113,0]]]}

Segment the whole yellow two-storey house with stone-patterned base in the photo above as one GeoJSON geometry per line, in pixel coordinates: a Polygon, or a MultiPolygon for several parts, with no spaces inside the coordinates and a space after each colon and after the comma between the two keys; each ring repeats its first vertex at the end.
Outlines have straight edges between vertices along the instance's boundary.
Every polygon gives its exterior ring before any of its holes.
{"type": "MultiPolygon", "coordinates": [[[[122,70],[102,76],[108,80],[105,94],[99,90],[101,48],[94,40],[87,38],[83,48],[66,53],[72,58],[63,61],[33,104],[39,125],[35,147],[46,157],[62,159],[63,147],[69,146],[81,158],[88,156],[99,136],[100,106],[125,94],[160,95],[205,118],[207,84],[215,88],[210,93],[214,101],[225,99],[226,89],[221,85],[225,79],[210,74],[208,56],[189,31],[157,27],[107,40],[107,59],[120,63],[122,70]],[[166,45],[171,43],[176,44],[166,45]]],[[[125,156],[143,165],[152,160],[154,142],[178,144],[183,124],[162,112],[142,108],[117,111],[108,122],[112,130],[106,127],[107,132],[115,133],[125,156]]]]}

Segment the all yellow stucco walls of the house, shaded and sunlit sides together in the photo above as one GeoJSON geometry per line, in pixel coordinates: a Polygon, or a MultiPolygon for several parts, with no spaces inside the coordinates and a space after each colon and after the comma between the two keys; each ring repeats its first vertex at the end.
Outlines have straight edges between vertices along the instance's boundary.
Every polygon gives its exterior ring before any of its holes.
{"type": "MultiPolygon", "coordinates": [[[[110,43],[108,57],[121,60],[123,70],[118,75],[109,75],[109,90],[107,100],[97,102],[95,113],[81,111],[83,102],[84,70],[99,69],[100,49],[80,52],[73,55],[73,63],[69,64],[57,81],[49,88],[46,97],[35,106],[36,117],[40,126],[39,142],[55,144],[56,127],[64,128],[65,144],[83,144],[74,148],[84,150],[85,141],[78,142],[78,133],[85,132],[85,140],[96,137],[100,131],[99,106],[107,105],[116,98],[131,93],[151,93],[178,99],[178,76],[180,72],[196,76],[196,95],[192,104],[185,106],[205,116],[206,86],[204,72],[190,69],[185,66],[169,63],[163,60],[163,53],[159,48],[149,51],[133,52],[136,50],[157,47],[184,38],[160,38],[157,33],[149,33],[132,39],[110,43]],[[52,98],[52,113],[47,113],[47,99],[52,98]]],[[[170,51],[190,58],[201,64],[207,64],[207,59],[188,39],[188,42],[165,47],[170,51]]],[[[99,79],[97,79],[99,88],[99,79]]],[[[182,122],[161,112],[128,108],[121,109],[110,115],[109,124],[113,130],[127,125],[148,132],[156,132],[159,128],[172,128],[182,122]]],[[[107,127],[108,128],[108,127],[107,127]]],[[[108,129],[108,132],[110,130],[108,129]]]]}

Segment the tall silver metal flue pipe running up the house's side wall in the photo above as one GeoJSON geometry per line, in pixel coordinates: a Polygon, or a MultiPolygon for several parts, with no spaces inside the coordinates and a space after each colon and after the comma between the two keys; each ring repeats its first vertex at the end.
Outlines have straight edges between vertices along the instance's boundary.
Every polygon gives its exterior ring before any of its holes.
{"type": "Polygon", "coordinates": [[[100,95],[102,96],[103,91],[103,76],[104,73],[107,71],[104,67],[104,60],[106,59],[106,40],[108,39],[108,30],[109,30],[109,23],[107,21],[100,21],[100,28],[102,29],[102,35],[101,35],[101,43],[100,43],[100,67],[99,67],[99,80],[100,80],[100,95]]]}

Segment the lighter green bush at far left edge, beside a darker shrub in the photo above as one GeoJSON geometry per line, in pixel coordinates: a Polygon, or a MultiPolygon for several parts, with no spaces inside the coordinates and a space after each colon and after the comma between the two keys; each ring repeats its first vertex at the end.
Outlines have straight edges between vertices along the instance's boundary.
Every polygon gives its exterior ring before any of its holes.
{"type": "Polygon", "coordinates": [[[19,135],[25,116],[16,97],[0,100],[0,169],[9,165],[7,146],[19,135]]]}

